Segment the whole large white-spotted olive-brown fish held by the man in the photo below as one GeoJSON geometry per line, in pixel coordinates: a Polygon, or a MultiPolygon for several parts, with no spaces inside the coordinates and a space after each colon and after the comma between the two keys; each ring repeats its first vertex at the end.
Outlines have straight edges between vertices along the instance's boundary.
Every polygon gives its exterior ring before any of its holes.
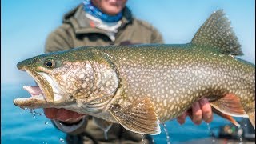
{"type": "Polygon", "coordinates": [[[255,66],[234,57],[242,54],[240,47],[218,10],[190,43],[86,46],[42,54],[18,63],[39,87],[26,86],[36,95],[16,98],[14,104],[65,108],[136,133],[159,134],[159,123],[209,98],[222,117],[234,124],[231,116],[249,117],[255,127],[255,66]]]}

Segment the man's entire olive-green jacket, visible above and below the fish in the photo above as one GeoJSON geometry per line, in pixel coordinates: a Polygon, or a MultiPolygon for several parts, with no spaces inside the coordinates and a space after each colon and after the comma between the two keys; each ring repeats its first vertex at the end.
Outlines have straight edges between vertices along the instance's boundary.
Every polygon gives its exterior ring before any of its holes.
{"type": "MultiPolygon", "coordinates": [[[[122,25],[112,41],[106,30],[90,26],[83,6],[79,5],[64,15],[62,26],[54,30],[46,39],[45,52],[70,50],[79,46],[125,45],[127,43],[163,43],[162,35],[153,26],[134,18],[126,7],[123,10],[122,25]]],[[[74,126],[53,121],[54,126],[66,132],[67,143],[142,143],[142,136],[114,124],[108,131],[108,140],[104,132],[91,117],[82,119],[74,126]]],[[[150,143],[146,136],[145,142],[150,143]]]]}

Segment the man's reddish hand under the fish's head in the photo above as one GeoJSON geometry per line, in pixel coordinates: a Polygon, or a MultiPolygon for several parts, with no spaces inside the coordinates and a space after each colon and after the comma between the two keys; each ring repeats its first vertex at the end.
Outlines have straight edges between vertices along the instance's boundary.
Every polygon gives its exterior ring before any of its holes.
{"type": "Polygon", "coordinates": [[[85,114],[78,114],[66,109],[45,108],[43,111],[47,118],[57,119],[66,123],[78,122],[85,116],[85,114]]]}

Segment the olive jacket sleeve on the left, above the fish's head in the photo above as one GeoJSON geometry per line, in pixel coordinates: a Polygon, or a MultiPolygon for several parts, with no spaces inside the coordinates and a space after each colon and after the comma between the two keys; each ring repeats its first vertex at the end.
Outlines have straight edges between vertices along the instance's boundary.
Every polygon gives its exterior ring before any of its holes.
{"type": "Polygon", "coordinates": [[[70,48],[74,47],[73,43],[74,42],[67,30],[59,27],[46,38],[45,53],[70,50],[70,48]]]}

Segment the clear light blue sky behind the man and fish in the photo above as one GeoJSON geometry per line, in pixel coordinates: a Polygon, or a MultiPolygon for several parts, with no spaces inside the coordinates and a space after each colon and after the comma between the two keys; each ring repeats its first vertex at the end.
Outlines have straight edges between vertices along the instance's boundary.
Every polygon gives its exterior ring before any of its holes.
{"type": "MultiPolygon", "coordinates": [[[[62,16],[82,0],[1,1],[1,83],[33,85],[16,64],[43,53],[47,35],[62,16]]],[[[254,0],[128,0],[133,14],[150,22],[166,43],[190,42],[214,10],[223,9],[242,45],[245,59],[255,63],[254,0]]]]}

